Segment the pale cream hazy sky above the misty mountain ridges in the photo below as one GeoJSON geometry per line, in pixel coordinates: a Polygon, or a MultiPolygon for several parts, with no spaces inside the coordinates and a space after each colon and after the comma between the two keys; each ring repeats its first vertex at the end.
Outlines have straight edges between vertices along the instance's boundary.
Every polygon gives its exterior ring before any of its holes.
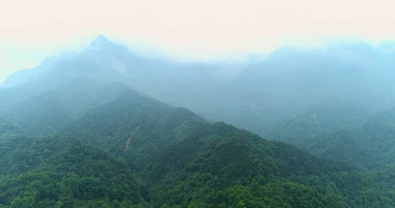
{"type": "Polygon", "coordinates": [[[200,59],[283,44],[395,37],[394,1],[13,0],[0,3],[0,81],[97,34],[200,59]]]}

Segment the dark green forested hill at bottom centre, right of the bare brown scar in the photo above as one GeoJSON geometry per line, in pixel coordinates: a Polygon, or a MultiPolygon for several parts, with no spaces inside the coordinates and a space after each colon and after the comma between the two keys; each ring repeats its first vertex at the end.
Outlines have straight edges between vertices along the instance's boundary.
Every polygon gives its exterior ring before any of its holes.
{"type": "MultiPolygon", "coordinates": [[[[154,187],[161,203],[182,207],[342,207],[350,203],[329,194],[330,190],[315,190],[307,181],[313,175],[335,177],[339,170],[352,170],[223,123],[207,129],[209,133],[200,132],[200,138],[163,151],[145,170],[146,174],[169,172],[154,187]]],[[[160,179],[158,174],[149,177],[160,179]]],[[[322,187],[331,183],[324,178],[317,181],[322,187]]],[[[338,188],[333,191],[347,195],[338,188]]]]}

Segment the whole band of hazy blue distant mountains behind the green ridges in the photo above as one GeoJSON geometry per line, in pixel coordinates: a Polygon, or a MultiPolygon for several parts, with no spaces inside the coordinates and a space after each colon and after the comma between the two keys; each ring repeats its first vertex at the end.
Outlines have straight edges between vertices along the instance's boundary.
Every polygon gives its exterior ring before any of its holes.
{"type": "Polygon", "coordinates": [[[303,116],[320,123],[315,129],[353,128],[394,107],[394,55],[392,42],[346,42],[324,49],[278,49],[250,66],[177,63],[139,56],[100,35],[81,53],[49,57],[14,73],[0,85],[1,105],[5,109],[14,102],[8,96],[28,99],[75,79],[115,81],[208,119],[281,139],[277,129],[289,129],[303,116]],[[29,88],[28,93],[15,93],[21,88],[29,88]],[[335,114],[350,115],[340,119],[335,114]]]}

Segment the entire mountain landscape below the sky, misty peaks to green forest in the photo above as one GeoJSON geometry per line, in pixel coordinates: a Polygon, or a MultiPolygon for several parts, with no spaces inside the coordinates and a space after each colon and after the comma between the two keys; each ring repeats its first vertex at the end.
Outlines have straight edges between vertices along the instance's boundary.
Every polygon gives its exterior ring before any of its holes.
{"type": "Polygon", "coordinates": [[[1,83],[0,207],[394,207],[394,49],[244,66],[98,36],[1,83]]]}

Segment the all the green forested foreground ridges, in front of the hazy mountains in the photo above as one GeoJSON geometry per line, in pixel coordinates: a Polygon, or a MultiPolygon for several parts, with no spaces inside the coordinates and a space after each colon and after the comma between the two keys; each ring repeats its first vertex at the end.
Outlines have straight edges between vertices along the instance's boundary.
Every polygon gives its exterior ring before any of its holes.
{"type": "Polygon", "coordinates": [[[0,122],[0,207],[395,207],[390,169],[320,159],[132,90],[51,135],[24,131],[0,122]]]}

